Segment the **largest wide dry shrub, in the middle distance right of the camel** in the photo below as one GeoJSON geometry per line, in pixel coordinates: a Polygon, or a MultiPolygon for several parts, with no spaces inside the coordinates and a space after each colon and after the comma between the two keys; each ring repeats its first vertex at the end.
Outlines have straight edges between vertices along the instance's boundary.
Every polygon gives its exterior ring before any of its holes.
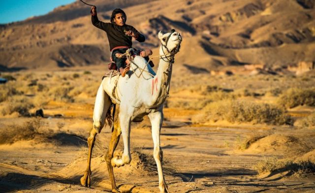
{"type": "Polygon", "coordinates": [[[292,124],[290,116],[284,110],[269,104],[249,101],[223,100],[213,102],[204,109],[207,118],[211,120],[227,120],[235,122],[265,123],[272,125],[292,124]]]}

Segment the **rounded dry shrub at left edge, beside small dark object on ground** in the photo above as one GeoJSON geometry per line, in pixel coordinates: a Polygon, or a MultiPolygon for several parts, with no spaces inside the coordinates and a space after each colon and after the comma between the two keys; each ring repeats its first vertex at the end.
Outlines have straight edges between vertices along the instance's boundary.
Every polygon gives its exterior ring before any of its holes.
{"type": "Polygon", "coordinates": [[[29,116],[29,110],[33,108],[32,102],[24,96],[13,96],[9,99],[8,103],[5,104],[2,109],[2,114],[12,114],[18,112],[21,116],[29,116]]]}

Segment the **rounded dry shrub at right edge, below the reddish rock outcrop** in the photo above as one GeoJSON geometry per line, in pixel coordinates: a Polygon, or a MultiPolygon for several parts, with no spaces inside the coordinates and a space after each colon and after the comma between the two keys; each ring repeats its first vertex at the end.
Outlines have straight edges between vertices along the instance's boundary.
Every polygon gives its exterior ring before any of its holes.
{"type": "Polygon", "coordinates": [[[315,90],[290,88],[280,96],[278,103],[286,108],[294,108],[299,105],[315,106],[315,90]]]}

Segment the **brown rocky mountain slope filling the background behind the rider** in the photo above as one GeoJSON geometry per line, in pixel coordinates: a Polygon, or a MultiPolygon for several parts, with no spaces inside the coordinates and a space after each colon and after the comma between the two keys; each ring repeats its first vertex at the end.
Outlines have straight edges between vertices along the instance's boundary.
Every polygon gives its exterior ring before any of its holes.
{"type": "MultiPolygon", "coordinates": [[[[127,24],[157,51],[159,30],[183,35],[176,62],[212,69],[222,65],[288,66],[315,61],[314,0],[87,0],[109,22],[123,8],[127,24]]],[[[0,26],[0,70],[58,68],[106,63],[104,31],[91,24],[81,1],[22,22],[0,26]]],[[[158,55],[154,52],[154,55],[158,55]]]]}

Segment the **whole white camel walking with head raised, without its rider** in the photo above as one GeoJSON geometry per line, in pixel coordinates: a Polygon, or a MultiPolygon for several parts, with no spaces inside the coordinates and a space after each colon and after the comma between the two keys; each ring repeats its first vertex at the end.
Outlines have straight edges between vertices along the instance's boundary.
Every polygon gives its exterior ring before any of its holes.
{"type": "Polygon", "coordinates": [[[130,156],[130,123],[141,121],[148,115],[152,124],[152,138],[154,142],[154,159],[158,166],[158,188],[160,193],[169,192],[162,171],[162,150],[160,148],[160,130],[163,121],[163,103],[168,95],[172,75],[174,55],[179,51],[182,37],[172,29],[171,32],[158,33],[161,41],[159,49],[160,60],[158,71],[155,73],[146,60],[135,56],[131,62],[131,70],[125,77],[105,77],[100,84],[94,108],[93,129],[88,138],[89,154],[88,166],[81,178],[83,186],[91,186],[91,154],[95,136],[105,125],[105,119],[111,123],[111,105],[119,104],[119,112],[115,117],[112,136],[106,155],[106,164],[109,172],[112,192],[119,193],[113,174],[113,166],[129,164],[130,156]],[[116,87],[117,84],[117,87],[116,87]],[[113,157],[120,135],[123,135],[124,153],[121,158],[113,157]]]}

